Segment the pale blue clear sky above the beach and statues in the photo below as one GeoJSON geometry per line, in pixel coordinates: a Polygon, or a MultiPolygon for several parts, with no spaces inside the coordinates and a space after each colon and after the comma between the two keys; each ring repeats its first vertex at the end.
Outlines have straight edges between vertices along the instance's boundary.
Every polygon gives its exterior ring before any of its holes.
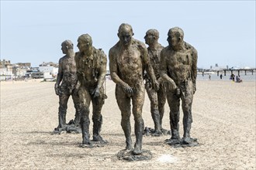
{"type": "Polygon", "coordinates": [[[1,0],[1,59],[11,63],[57,63],[61,42],[88,33],[104,50],[119,40],[121,23],[144,42],[148,29],[179,26],[198,50],[198,66],[255,66],[255,1],[5,1],[1,0]]]}

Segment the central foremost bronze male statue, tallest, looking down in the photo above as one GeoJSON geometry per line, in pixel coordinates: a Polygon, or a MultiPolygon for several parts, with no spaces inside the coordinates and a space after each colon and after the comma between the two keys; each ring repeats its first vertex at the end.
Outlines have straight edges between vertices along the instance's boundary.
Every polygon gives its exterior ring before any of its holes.
{"type": "Polygon", "coordinates": [[[131,100],[135,121],[136,143],[133,154],[140,155],[144,120],[144,69],[149,73],[152,86],[158,89],[154,70],[150,66],[147,48],[143,42],[133,39],[133,29],[129,24],[121,24],[118,30],[119,42],[109,50],[109,69],[112,80],[116,83],[116,101],[121,110],[121,125],[126,137],[126,150],[132,150],[130,114],[131,100]]]}

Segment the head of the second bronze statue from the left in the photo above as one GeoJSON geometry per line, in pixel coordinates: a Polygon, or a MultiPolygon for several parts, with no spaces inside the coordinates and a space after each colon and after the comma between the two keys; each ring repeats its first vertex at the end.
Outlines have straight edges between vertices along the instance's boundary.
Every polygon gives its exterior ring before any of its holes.
{"type": "Polygon", "coordinates": [[[80,52],[86,52],[92,49],[92,37],[88,34],[83,34],[79,36],[77,46],[80,52]]]}

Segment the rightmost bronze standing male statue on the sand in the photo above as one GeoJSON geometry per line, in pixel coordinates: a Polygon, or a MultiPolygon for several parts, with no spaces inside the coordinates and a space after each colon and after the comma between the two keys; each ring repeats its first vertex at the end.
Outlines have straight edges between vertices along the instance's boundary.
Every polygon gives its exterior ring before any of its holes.
{"type": "Polygon", "coordinates": [[[192,126],[192,100],[196,90],[197,51],[183,40],[184,32],[178,27],[169,29],[168,44],[161,51],[161,77],[168,83],[167,98],[170,107],[171,138],[169,145],[195,144],[190,137],[192,126]],[[179,108],[182,99],[183,129],[182,140],[179,136],[179,108]]]}

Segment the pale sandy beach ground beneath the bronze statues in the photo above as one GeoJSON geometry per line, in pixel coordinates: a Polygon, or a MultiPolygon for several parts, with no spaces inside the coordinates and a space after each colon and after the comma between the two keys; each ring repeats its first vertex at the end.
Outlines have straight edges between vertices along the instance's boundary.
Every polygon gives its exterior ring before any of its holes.
{"type": "MultiPolygon", "coordinates": [[[[149,161],[124,162],[116,154],[125,148],[116,104],[115,83],[106,82],[108,99],[102,108],[102,137],[109,145],[80,148],[81,134],[51,134],[57,127],[58,97],[54,82],[1,82],[1,169],[255,169],[255,82],[198,80],[192,105],[192,138],[199,146],[172,148],[170,135],[144,136],[149,161]]],[[[146,95],[144,123],[154,127],[146,95]]],[[[165,104],[163,127],[170,129],[165,104]]],[[[182,117],[180,132],[182,131],[182,117]]],[[[92,112],[90,113],[92,138],[92,112]]],[[[67,120],[74,119],[70,98],[67,120]]],[[[135,141],[133,116],[132,138],[135,141]]]]}

